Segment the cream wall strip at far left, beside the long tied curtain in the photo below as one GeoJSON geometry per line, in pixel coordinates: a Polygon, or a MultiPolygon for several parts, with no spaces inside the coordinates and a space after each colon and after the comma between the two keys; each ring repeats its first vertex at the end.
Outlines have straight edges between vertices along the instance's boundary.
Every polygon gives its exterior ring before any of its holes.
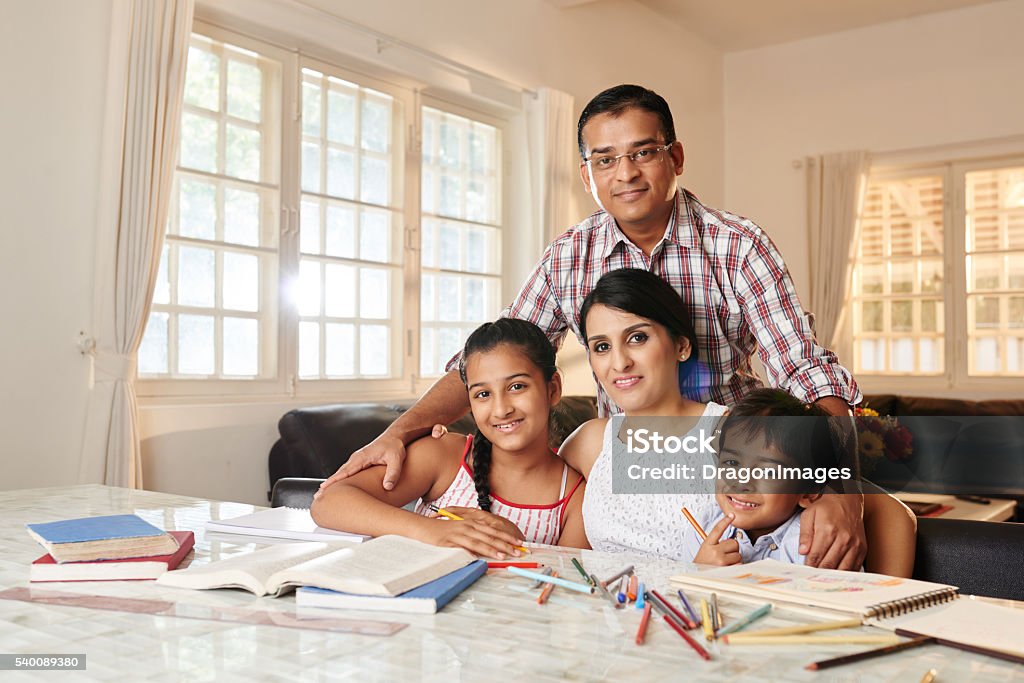
{"type": "Polygon", "coordinates": [[[0,488],[78,480],[110,9],[0,8],[0,488]]]}

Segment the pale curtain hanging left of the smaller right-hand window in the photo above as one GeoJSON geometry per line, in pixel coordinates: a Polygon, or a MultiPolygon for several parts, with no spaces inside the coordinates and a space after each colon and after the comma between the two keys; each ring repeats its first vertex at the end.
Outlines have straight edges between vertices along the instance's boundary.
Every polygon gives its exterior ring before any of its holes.
{"type": "Polygon", "coordinates": [[[857,213],[870,160],[843,152],[805,160],[811,266],[810,309],[818,341],[836,348],[853,274],[857,213]]]}

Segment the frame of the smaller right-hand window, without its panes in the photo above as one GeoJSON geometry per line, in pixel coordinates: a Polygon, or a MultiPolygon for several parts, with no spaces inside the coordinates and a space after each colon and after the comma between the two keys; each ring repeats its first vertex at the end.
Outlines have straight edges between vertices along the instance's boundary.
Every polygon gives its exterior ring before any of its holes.
{"type": "MultiPolygon", "coordinates": [[[[929,155],[934,158],[933,155],[929,155]]],[[[945,367],[940,375],[912,374],[880,375],[854,371],[861,389],[866,393],[922,393],[987,397],[1016,397],[1020,394],[1022,378],[1019,376],[971,376],[968,374],[968,310],[967,310],[967,202],[966,176],[969,172],[1024,166],[1024,156],[994,155],[956,158],[947,161],[914,164],[876,164],[869,173],[870,180],[895,180],[923,175],[941,175],[943,178],[943,280],[944,350],[945,367]]],[[[851,292],[851,304],[855,292],[851,292]]],[[[846,353],[853,357],[853,315],[847,316],[846,353]]],[[[851,364],[853,366],[853,364],[851,364]]],[[[852,370],[852,368],[851,368],[852,370]]]]}

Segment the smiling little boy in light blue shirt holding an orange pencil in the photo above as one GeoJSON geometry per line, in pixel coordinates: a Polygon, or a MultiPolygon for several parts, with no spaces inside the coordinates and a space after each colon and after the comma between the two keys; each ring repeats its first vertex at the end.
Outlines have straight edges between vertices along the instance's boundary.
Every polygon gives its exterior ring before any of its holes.
{"type": "MultiPolygon", "coordinates": [[[[740,399],[724,420],[719,439],[720,472],[740,474],[752,469],[801,468],[820,478],[783,480],[741,476],[719,477],[719,509],[697,512],[708,531],[703,542],[689,529],[685,544],[693,561],[729,565],[771,558],[803,564],[800,513],[817,501],[825,472],[847,458],[841,426],[826,413],[778,389],[758,389],[740,399]]],[[[776,469],[777,471],[777,469],[776,469]]],[[[890,532],[869,533],[871,570],[909,577],[913,568],[913,535],[904,533],[902,519],[890,532]]]]}

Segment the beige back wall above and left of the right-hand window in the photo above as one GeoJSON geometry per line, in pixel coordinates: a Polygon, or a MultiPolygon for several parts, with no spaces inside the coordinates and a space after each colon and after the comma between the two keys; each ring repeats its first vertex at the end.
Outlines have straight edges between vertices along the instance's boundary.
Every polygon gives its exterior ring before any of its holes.
{"type": "Polygon", "coordinates": [[[1021,0],[729,54],[726,206],[769,232],[806,304],[805,175],[794,162],[1019,136],[1022,67],[1021,0]]]}

